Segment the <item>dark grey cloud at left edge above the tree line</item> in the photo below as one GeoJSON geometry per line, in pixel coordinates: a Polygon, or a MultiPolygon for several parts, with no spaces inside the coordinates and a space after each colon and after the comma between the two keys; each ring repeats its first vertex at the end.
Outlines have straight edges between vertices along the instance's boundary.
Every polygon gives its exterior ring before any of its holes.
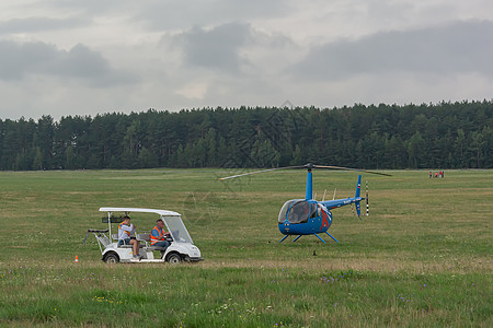
{"type": "Polygon", "coordinates": [[[111,68],[100,54],[83,45],[69,51],[44,43],[0,40],[0,80],[21,80],[32,74],[82,80],[89,85],[129,83],[135,78],[111,68]]]}

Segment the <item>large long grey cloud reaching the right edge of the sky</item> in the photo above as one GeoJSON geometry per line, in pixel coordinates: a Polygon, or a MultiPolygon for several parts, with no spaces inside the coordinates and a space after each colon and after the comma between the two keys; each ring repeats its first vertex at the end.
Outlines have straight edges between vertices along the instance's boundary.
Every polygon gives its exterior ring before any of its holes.
{"type": "Polygon", "coordinates": [[[493,22],[457,22],[318,46],[291,72],[321,80],[391,71],[492,74],[492,57],[493,22]]]}

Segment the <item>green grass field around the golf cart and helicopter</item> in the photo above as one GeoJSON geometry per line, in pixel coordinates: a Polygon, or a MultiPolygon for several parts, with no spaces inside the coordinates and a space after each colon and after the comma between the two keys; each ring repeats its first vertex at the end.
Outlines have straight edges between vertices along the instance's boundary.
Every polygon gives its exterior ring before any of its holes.
{"type": "MultiPolygon", "coordinates": [[[[493,171],[365,175],[370,216],[333,210],[340,244],[277,243],[303,171],[218,180],[236,173],[0,173],[0,326],[493,327],[493,171]],[[105,227],[100,207],[182,213],[205,261],[103,263],[93,237],[82,246],[105,227]]],[[[357,174],[313,178],[318,199],[343,198],[357,174]]],[[[133,221],[149,231],[152,219],[133,221]]]]}

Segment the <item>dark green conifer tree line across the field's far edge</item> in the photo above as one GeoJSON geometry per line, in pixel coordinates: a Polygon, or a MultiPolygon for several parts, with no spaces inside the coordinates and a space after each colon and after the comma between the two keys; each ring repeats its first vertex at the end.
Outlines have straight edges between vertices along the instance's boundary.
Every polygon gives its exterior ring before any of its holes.
{"type": "Polygon", "coordinates": [[[492,168],[492,113],[483,101],[0,119],[0,169],[492,168]]]}

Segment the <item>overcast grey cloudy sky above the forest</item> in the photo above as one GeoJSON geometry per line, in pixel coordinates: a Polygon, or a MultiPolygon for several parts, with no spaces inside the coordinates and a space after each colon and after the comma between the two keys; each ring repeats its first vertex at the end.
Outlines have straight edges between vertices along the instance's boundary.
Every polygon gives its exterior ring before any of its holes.
{"type": "Polygon", "coordinates": [[[0,119],[492,99],[492,13],[491,0],[3,0],[0,119]]]}

